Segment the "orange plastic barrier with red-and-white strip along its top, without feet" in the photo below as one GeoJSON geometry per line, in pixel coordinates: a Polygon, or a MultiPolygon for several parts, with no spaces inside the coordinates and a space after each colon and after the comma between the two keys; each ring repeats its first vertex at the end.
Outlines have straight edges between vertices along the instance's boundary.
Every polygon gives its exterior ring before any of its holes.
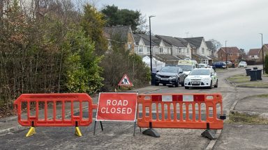
{"type": "Polygon", "coordinates": [[[141,128],[223,128],[221,94],[140,94],[137,103],[141,128]]]}

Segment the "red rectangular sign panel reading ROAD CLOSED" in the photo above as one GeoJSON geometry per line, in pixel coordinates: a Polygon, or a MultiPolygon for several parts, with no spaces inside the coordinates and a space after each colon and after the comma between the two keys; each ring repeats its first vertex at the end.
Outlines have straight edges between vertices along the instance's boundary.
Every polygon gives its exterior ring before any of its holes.
{"type": "Polygon", "coordinates": [[[135,122],[137,93],[100,93],[96,121],[135,122]]]}

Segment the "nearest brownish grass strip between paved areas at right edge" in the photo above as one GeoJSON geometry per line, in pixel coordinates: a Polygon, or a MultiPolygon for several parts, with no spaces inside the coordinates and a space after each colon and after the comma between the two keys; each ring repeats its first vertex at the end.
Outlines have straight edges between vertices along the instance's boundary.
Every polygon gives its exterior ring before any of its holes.
{"type": "Polygon", "coordinates": [[[243,113],[230,113],[229,120],[227,123],[230,124],[268,124],[268,119],[259,117],[259,115],[246,115],[243,113]]]}

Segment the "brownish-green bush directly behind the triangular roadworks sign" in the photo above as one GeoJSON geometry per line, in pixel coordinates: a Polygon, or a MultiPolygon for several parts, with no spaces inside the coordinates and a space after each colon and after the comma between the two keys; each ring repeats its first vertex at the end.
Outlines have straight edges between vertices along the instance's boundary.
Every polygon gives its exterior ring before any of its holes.
{"type": "MultiPolygon", "coordinates": [[[[116,40],[114,40],[116,41],[116,40]]],[[[112,42],[112,50],[105,54],[101,62],[103,67],[103,91],[112,91],[127,74],[135,88],[149,83],[150,70],[142,62],[142,58],[125,49],[124,44],[112,42]]]]}

